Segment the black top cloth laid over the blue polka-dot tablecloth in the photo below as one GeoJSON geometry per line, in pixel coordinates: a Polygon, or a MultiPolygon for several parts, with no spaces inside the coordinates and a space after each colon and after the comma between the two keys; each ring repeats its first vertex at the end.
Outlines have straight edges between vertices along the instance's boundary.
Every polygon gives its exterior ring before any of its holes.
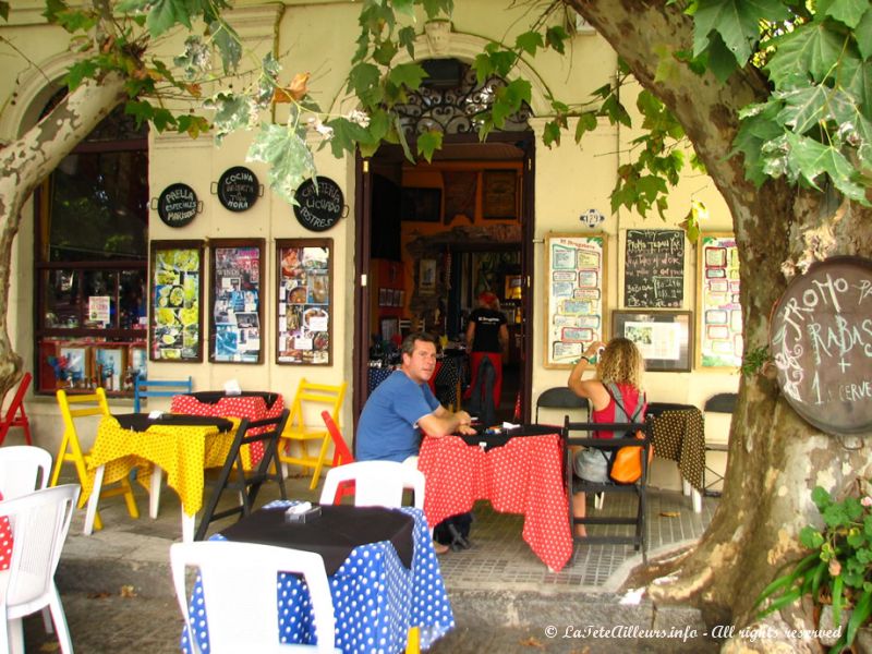
{"type": "Polygon", "coordinates": [[[283,508],[264,508],[221,530],[228,541],[262,543],[315,552],[324,558],[327,574],[334,574],[359,545],[390,541],[407,568],[414,552],[412,516],[383,507],[322,506],[312,522],[284,521],[283,508]]]}

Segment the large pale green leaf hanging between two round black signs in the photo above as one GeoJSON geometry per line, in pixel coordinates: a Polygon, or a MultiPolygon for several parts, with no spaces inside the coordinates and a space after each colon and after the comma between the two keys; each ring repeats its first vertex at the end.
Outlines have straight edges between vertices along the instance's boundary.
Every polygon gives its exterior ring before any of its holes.
{"type": "Polygon", "coordinates": [[[291,204],[296,202],[293,197],[296,187],[316,172],[305,140],[283,125],[263,124],[246,160],[267,164],[270,189],[291,204]]]}

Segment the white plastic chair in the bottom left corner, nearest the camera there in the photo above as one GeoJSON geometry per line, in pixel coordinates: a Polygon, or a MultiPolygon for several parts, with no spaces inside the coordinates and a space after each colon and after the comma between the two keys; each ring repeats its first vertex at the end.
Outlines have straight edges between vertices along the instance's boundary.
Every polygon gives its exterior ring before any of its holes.
{"type": "Polygon", "coordinates": [[[22,618],[46,606],[61,652],[73,652],[55,571],[78,492],[78,484],[64,484],[0,502],[13,535],[9,570],[0,572],[0,645],[8,644],[10,652],[24,652],[22,618]]]}

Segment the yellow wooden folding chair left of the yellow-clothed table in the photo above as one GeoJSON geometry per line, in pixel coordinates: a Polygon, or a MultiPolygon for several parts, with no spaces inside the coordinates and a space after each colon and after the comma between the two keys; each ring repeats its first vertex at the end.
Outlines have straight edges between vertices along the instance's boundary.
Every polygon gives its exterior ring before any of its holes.
{"type": "MultiPolygon", "coordinates": [[[[85,488],[87,487],[87,469],[90,462],[90,455],[82,451],[82,446],[78,441],[78,433],[76,432],[73,419],[88,415],[109,415],[109,403],[106,401],[106,391],[102,388],[98,388],[94,393],[68,396],[66,391],[59,390],[57,396],[58,404],[61,408],[61,416],[63,417],[63,439],[61,440],[61,448],[58,450],[58,456],[55,457],[55,470],[51,473],[51,485],[58,485],[61,467],[64,463],[72,463],[78,475],[78,483],[85,488]],[[76,408],[72,408],[71,404],[76,408]]],[[[124,496],[124,501],[128,505],[128,512],[131,518],[140,517],[140,510],[136,508],[136,499],[133,497],[133,488],[128,477],[124,477],[120,486],[107,488],[100,493],[100,497],[113,497],[116,495],[124,496]]],[[[87,500],[87,496],[83,493],[78,498],[80,509],[85,506],[85,500],[87,500]]],[[[102,529],[99,513],[97,513],[94,519],[94,528],[102,529]]]]}

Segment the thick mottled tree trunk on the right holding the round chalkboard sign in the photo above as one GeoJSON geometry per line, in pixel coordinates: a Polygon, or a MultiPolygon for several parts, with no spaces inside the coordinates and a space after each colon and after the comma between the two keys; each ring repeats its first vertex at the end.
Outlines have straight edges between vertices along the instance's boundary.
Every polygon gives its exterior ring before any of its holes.
{"type": "MultiPolygon", "coordinates": [[[[802,256],[808,233],[824,235],[824,244],[832,234],[832,247],[822,254],[872,256],[872,213],[828,206],[823,193],[796,190],[783,180],[770,180],[758,189],[744,179],[741,157],[726,157],[732,149],[739,109],[768,96],[756,70],[749,66],[720,83],[711,73],[700,77],[676,62],[665,78],[655,78],[665,45],[670,50],[678,45],[692,49],[692,21],[678,5],[639,0],[568,0],[568,4],[675,113],[723,194],[739,249],[746,349],[768,342],[770,314],[787,286],[782,263],[802,256]]],[[[656,389],[651,392],[656,395],[656,389]]],[[[743,377],[718,508],[695,547],[647,571],[653,579],[651,595],[694,603],[713,625],[751,625],[760,591],[782,564],[797,558],[799,530],[816,520],[812,488],[821,485],[838,493],[856,477],[870,474],[870,451],[862,438],[848,444],[822,434],[787,404],[773,379],[743,377]]],[[[797,614],[794,619],[809,617],[797,614]]],[[[734,641],[727,649],[762,651],[771,645],[734,641]]],[[[790,646],[815,651],[820,645],[791,641],[790,646]]]]}

